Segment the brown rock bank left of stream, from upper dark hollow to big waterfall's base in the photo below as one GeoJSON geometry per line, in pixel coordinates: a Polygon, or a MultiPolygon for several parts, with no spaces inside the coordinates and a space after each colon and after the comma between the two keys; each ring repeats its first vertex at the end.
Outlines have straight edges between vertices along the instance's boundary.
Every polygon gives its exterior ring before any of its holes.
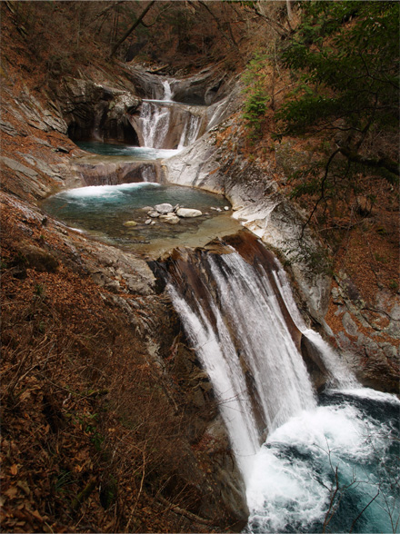
{"type": "MultiPolygon", "coordinates": [[[[157,294],[153,273],[134,254],[86,239],[21,200],[32,202],[65,187],[109,183],[110,176],[115,183],[136,180],[135,176],[129,177],[129,173],[137,172],[135,166],[124,162],[116,166],[106,163],[100,169],[88,160],[75,157],[72,161],[70,153],[82,153],[66,137],[68,126],[70,134],[75,128],[75,135],[92,135],[100,116],[113,116],[111,113],[120,116],[121,111],[117,110],[125,110],[132,103],[124,98],[124,92],[108,91],[103,83],[71,81],[69,89],[61,91],[59,104],[49,104],[50,111],[38,108],[35,125],[26,125],[28,117],[25,111],[19,111],[10,92],[1,126],[7,139],[13,140],[15,149],[4,156],[0,194],[2,214],[7,220],[12,218],[18,232],[25,236],[24,242],[20,242],[20,257],[25,260],[20,262],[22,271],[15,270],[15,275],[37,272],[53,277],[70,271],[71,276],[95,283],[104,300],[105,312],[110,311],[110,321],[114,320],[114,313],[125,315],[137,340],[147,347],[148,364],[157,370],[156,382],[165,391],[165,406],[176,409],[176,417],[183,421],[182,461],[179,465],[175,462],[174,476],[170,473],[165,478],[171,479],[166,496],[174,499],[179,489],[190,488],[196,496],[192,512],[198,519],[205,518],[203,527],[206,524],[207,529],[240,530],[245,526],[248,511],[241,475],[230,456],[224,423],[219,419],[212,388],[195,354],[181,340],[180,323],[171,304],[157,294]],[[87,129],[86,118],[90,125],[87,129]],[[52,127],[59,129],[51,130],[52,127]],[[33,129],[37,129],[37,136],[32,135],[33,129]],[[28,135],[30,145],[25,149],[24,139],[28,135]],[[33,143],[35,150],[32,150],[33,143]],[[170,359],[172,353],[174,361],[170,359]],[[183,389],[174,385],[178,383],[183,389]]],[[[34,124],[34,117],[29,117],[29,121],[34,124]]],[[[132,128],[130,124],[129,128],[132,128]]],[[[111,132],[111,126],[105,130],[111,132]]],[[[157,181],[161,180],[157,177],[157,181]]],[[[175,214],[173,218],[179,221],[175,214]]],[[[195,520],[187,519],[189,525],[195,524],[195,520]]]]}

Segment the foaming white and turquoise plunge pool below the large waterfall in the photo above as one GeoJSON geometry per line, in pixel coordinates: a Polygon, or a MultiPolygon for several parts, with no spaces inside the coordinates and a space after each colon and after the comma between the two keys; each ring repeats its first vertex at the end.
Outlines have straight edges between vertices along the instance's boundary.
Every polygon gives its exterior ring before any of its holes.
{"type": "MultiPolygon", "coordinates": [[[[355,397],[363,401],[356,405],[351,398],[354,392],[304,411],[268,437],[247,484],[248,531],[321,532],[330,517],[336,469],[339,488],[348,489],[327,531],[348,532],[365,507],[355,532],[397,531],[400,499],[398,490],[391,487],[398,477],[393,460],[398,455],[398,447],[393,450],[394,416],[392,422],[390,418],[381,422],[382,416],[378,419],[373,410],[363,407],[365,402],[374,406],[375,395],[358,390],[355,397]]],[[[398,414],[395,397],[381,393],[379,401],[383,410],[392,405],[398,414]]]]}

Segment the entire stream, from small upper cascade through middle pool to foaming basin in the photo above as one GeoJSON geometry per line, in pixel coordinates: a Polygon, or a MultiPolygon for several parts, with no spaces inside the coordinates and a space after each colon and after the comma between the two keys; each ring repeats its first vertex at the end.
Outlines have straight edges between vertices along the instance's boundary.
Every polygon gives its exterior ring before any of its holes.
{"type": "MultiPolygon", "coordinates": [[[[195,109],[176,133],[175,105],[165,81],[165,100],[144,101],[143,146],[80,146],[97,153],[88,161],[174,156],[207,129],[195,109]]],[[[149,259],[191,247],[158,262],[159,270],[221,407],[245,481],[246,532],[398,531],[400,402],[363,388],[305,326],[284,269],[258,240],[226,238],[220,250],[194,250],[240,229],[223,197],[152,178],[65,191],[43,208],[149,259]],[[171,225],[148,216],[159,203],[203,214],[171,225]],[[135,226],[126,227],[130,220],[135,226]],[[315,391],[305,344],[322,362],[324,391],[315,391]]]]}

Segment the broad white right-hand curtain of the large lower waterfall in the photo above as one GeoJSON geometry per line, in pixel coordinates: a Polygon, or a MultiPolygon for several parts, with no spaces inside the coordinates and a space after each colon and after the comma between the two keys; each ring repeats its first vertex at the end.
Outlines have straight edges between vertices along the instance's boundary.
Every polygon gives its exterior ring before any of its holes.
{"type": "Polygon", "coordinates": [[[260,394],[266,428],[271,431],[301,410],[315,406],[315,395],[305,363],[292,340],[268,277],[237,253],[210,257],[211,272],[225,321],[234,325],[260,394]],[[285,391],[285,395],[282,394],[285,391]]]}

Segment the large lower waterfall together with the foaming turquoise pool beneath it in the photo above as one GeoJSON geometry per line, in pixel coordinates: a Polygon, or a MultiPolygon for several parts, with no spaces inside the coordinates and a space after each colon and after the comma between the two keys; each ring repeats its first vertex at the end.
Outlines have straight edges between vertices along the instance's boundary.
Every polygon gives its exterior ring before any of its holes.
{"type": "Polygon", "coordinates": [[[305,326],[282,267],[252,241],[252,252],[175,252],[167,276],[244,476],[247,531],[318,532],[325,521],[336,532],[396,531],[397,475],[387,473],[398,454],[399,402],[357,384],[305,326]],[[302,336],[336,388],[318,403],[302,336]]]}

